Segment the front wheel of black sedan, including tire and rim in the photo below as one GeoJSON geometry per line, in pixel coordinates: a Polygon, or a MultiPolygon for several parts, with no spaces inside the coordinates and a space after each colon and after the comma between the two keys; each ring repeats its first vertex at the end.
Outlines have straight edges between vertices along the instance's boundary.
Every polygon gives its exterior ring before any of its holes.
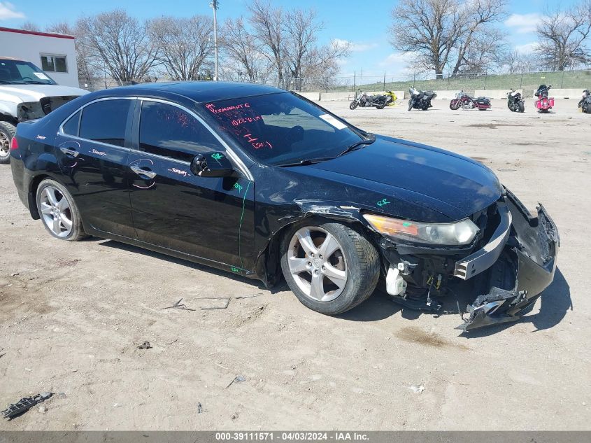
{"type": "Polygon", "coordinates": [[[340,223],[305,220],[284,237],[281,269],[304,306],[334,316],[373,293],[380,259],[373,244],[356,230],[340,223]]]}

